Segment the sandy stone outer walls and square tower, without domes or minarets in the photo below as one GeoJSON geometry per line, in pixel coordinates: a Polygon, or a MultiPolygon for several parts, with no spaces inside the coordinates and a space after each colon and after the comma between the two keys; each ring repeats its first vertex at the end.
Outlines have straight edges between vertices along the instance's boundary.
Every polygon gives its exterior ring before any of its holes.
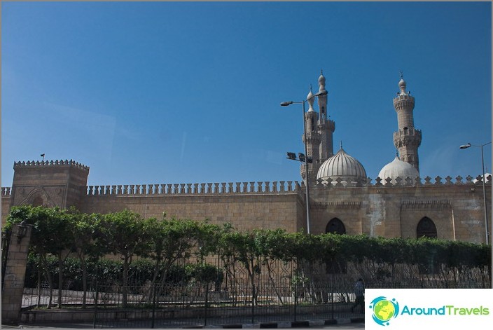
{"type": "MultiPolygon", "coordinates": [[[[46,163],[15,166],[13,187],[2,188],[2,224],[8,215],[6,205],[43,200],[44,205],[74,205],[88,213],[131,209],[144,217],[159,219],[166,212],[179,219],[230,223],[239,230],[306,231],[305,186],[296,181],[77,186],[67,173],[78,171],[87,179],[88,167],[67,161],[46,163]],[[32,175],[34,172],[38,175],[32,175]],[[65,193],[70,189],[79,194],[65,193]]],[[[482,181],[426,177],[398,180],[398,184],[382,184],[380,179],[363,185],[342,182],[323,184],[319,180],[310,185],[310,233],[331,231],[329,224],[339,219],[349,235],[416,238],[419,221],[428,218],[436,226],[438,238],[485,242],[482,181]]],[[[491,181],[486,189],[491,211],[491,181]]]]}

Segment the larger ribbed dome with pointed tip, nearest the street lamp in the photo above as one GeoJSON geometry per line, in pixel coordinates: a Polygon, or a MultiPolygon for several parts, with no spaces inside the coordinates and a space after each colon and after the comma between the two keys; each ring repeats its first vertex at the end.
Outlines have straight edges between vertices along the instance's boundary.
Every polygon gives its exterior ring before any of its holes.
{"type": "Polygon", "coordinates": [[[366,171],[356,158],[349,156],[341,149],[331,158],[328,158],[319,168],[317,180],[331,178],[350,180],[352,182],[365,181],[366,171]]]}

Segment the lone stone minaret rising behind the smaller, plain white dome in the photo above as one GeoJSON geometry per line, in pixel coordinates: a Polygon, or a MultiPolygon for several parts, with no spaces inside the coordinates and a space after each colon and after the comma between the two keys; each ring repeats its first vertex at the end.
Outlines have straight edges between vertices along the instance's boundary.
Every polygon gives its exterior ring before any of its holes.
{"type": "Polygon", "coordinates": [[[399,151],[401,160],[410,163],[419,172],[417,149],[421,144],[421,131],[415,128],[412,110],[415,109],[415,98],[405,91],[405,81],[401,72],[399,81],[401,92],[394,97],[394,109],[397,112],[398,131],[394,132],[394,145],[399,151]]]}

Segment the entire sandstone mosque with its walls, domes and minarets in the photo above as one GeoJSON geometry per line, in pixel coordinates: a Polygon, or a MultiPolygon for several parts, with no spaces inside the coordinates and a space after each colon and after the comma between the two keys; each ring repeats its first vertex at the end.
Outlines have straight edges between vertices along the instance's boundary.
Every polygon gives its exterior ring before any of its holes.
{"type": "Polygon", "coordinates": [[[415,97],[406,90],[402,75],[394,97],[398,130],[393,139],[398,156],[373,180],[342,145],[334,153],[335,122],[328,117],[325,85],[321,74],[319,91],[314,95],[310,90],[307,95],[303,143],[312,162],[307,168],[301,166],[301,183],[88,186],[89,167],[74,160],[19,161],[13,165],[12,186],[1,188],[2,224],[14,205],[74,205],[81,212],[130,209],[158,219],[166,212],[179,219],[230,223],[238,230],[284,228],[312,234],[485,242],[488,228],[492,228],[490,177],[485,176],[483,185],[482,177],[420,176],[422,133],[414,124],[415,97]],[[315,99],[318,111],[314,109],[315,99]]]}

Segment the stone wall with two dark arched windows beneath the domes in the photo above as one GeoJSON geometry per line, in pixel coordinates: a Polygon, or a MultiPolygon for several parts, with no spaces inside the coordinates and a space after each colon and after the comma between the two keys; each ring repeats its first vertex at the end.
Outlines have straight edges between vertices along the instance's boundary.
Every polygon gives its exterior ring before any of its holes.
{"type": "MultiPolygon", "coordinates": [[[[486,186],[491,229],[491,184],[486,186]]],[[[438,238],[485,242],[482,183],[419,186],[312,188],[312,233],[324,233],[333,218],[349,235],[416,238],[425,216],[438,238]]]]}

